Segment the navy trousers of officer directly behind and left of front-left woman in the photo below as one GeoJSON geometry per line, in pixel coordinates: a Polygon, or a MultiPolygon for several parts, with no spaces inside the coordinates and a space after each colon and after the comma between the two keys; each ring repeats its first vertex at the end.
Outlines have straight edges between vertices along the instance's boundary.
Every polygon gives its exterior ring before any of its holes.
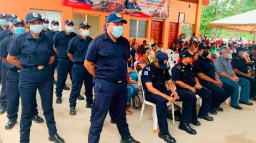
{"type": "MultiPolygon", "coordinates": [[[[20,104],[20,91],[19,91],[20,73],[17,69],[8,69],[6,79],[7,89],[7,118],[9,120],[17,120],[20,104]]],[[[38,109],[34,108],[33,115],[38,115],[38,109]]]]}

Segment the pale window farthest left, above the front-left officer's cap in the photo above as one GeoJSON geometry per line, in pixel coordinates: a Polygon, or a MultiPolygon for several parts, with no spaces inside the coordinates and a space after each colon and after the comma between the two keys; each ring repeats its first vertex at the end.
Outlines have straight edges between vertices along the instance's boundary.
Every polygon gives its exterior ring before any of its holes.
{"type": "Polygon", "coordinates": [[[51,22],[53,20],[57,20],[59,22],[59,31],[62,30],[62,12],[37,9],[31,9],[31,11],[38,12],[38,14],[42,16],[42,18],[47,18],[50,22],[49,29],[51,29],[51,22]]]}

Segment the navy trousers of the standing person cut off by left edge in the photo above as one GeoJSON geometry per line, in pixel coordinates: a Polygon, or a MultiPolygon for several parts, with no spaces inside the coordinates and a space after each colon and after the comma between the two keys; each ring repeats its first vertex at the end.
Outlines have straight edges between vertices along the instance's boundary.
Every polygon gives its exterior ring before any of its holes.
{"type": "Polygon", "coordinates": [[[0,93],[0,106],[6,108],[6,76],[7,76],[8,68],[5,66],[5,62],[2,62],[2,70],[1,70],[1,93],[0,93]]]}

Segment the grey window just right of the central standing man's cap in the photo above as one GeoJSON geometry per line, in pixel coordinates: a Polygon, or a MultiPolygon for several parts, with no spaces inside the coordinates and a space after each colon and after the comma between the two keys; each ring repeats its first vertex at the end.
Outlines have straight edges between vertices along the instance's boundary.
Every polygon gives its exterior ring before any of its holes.
{"type": "Polygon", "coordinates": [[[147,21],[130,19],[130,35],[131,38],[146,37],[147,21]]]}

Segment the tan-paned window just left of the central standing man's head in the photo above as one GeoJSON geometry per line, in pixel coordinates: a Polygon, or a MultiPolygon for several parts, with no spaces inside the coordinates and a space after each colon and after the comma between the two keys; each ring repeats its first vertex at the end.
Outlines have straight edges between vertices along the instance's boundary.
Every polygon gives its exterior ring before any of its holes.
{"type": "Polygon", "coordinates": [[[96,37],[100,35],[100,16],[94,15],[82,15],[82,14],[73,14],[73,22],[74,22],[74,31],[78,34],[78,25],[80,22],[87,22],[91,28],[90,37],[96,37]]]}

